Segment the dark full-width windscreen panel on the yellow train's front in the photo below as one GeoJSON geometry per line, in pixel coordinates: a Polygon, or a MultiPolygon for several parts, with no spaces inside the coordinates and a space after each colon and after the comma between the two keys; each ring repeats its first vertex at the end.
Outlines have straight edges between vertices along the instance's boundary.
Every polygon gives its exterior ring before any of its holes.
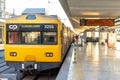
{"type": "Polygon", "coordinates": [[[57,29],[53,28],[54,25],[52,25],[52,29],[48,29],[51,27],[50,25],[47,27],[42,25],[41,28],[40,25],[38,27],[22,26],[14,25],[14,29],[11,25],[8,27],[12,29],[7,29],[7,44],[57,44],[57,29]]]}

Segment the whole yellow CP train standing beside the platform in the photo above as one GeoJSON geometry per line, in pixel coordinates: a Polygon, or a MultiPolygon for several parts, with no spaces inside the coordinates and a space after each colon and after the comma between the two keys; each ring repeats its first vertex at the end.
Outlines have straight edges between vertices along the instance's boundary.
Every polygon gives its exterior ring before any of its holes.
{"type": "Polygon", "coordinates": [[[73,34],[52,16],[26,14],[10,18],[4,28],[5,61],[17,70],[59,67],[73,34]]]}

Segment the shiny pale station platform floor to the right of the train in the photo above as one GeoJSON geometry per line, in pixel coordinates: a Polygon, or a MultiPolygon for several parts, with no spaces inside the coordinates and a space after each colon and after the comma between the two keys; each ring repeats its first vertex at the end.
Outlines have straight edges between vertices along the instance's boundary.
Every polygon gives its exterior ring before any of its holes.
{"type": "MultiPolygon", "coordinates": [[[[116,47],[120,45],[117,44],[116,47]]],[[[120,50],[108,48],[107,44],[86,43],[76,49],[74,63],[74,44],[56,80],[119,80],[120,50]]]]}

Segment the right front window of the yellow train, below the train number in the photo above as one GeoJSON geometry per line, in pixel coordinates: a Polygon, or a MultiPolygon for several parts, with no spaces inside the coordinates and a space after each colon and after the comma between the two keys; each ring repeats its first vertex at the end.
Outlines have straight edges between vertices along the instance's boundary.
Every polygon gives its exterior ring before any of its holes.
{"type": "Polygon", "coordinates": [[[57,32],[43,32],[43,44],[56,44],[57,32]]]}

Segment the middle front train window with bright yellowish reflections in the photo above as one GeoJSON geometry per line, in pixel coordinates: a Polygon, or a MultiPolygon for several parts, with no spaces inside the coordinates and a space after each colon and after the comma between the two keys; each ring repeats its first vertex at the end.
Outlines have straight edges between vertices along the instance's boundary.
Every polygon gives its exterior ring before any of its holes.
{"type": "Polygon", "coordinates": [[[40,43],[40,32],[22,32],[22,43],[24,44],[40,43]]]}

